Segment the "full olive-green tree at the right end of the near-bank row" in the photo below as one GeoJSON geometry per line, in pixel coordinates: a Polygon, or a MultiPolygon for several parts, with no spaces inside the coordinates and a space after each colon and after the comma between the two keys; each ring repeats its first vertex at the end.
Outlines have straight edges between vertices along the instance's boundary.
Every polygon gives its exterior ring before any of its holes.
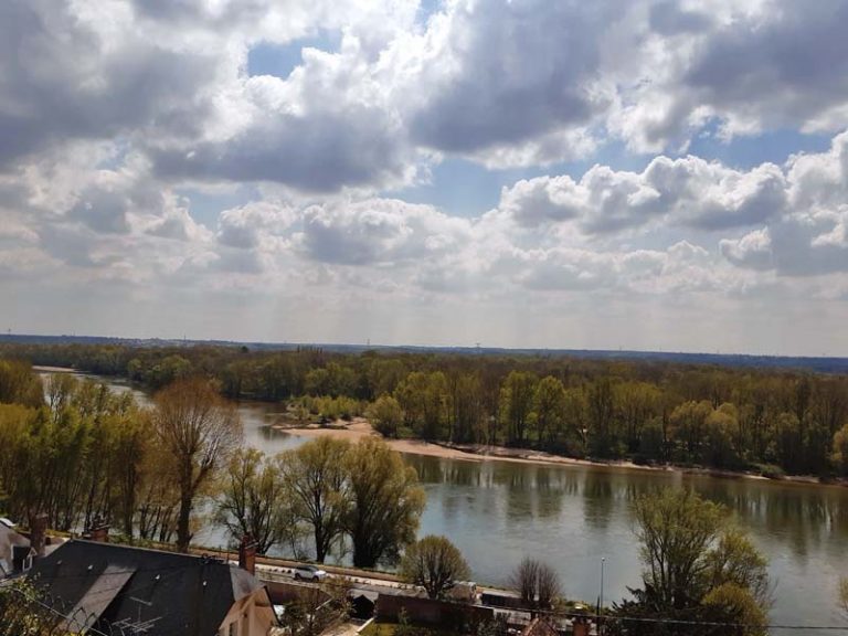
{"type": "Polygon", "coordinates": [[[353,543],[353,565],[396,561],[415,539],[426,497],[415,469],[377,437],[353,445],[346,460],[349,508],[344,528],[353,543]]]}

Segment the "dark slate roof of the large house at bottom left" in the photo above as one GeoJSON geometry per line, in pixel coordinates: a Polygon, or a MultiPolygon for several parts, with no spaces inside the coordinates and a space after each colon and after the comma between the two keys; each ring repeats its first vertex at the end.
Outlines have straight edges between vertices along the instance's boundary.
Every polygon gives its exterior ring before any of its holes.
{"type": "Polygon", "coordinates": [[[81,540],[36,561],[30,575],[76,616],[68,627],[150,622],[149,633],[162,636],[213,636],[234,603],[263,587],[218,560],[81,540]]]}

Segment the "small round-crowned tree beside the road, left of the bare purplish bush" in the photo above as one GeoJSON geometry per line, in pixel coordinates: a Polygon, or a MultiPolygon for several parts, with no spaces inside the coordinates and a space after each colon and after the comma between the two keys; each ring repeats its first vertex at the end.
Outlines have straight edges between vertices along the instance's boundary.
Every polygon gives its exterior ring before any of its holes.
{"type": "Polygon", "coordinates": [[[428,534],[412,543],[401,559],[403,579],[427,591],[427,596],[438,598],[470,575],[470,569],[462,552],[445,537],[428,534]]]}

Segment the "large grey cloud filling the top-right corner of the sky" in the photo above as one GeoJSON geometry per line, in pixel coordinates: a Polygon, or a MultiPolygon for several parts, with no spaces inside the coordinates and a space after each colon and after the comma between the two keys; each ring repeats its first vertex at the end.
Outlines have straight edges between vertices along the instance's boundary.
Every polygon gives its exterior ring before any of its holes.
{"type": "Polygon", "coordinates": [[[660,2],[634,23],[632,62],[611,128],[640,151],[685,147],[707,123],[720,135],[845,126],[845,3],[660,2]]]}

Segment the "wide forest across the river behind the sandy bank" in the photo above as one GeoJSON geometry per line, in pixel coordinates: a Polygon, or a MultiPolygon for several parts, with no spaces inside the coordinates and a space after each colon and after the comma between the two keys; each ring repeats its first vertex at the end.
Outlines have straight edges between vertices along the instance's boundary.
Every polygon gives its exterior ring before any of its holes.
{"type": "Polygon", "coordinates": [[[127,377],[151,390],[201,374],[231,399],[289,402],[326,418],[367,412],[390,436],[770,475],[848,474],[846,375],[308,348],[6,346],[0,356],[127,377]]]}

